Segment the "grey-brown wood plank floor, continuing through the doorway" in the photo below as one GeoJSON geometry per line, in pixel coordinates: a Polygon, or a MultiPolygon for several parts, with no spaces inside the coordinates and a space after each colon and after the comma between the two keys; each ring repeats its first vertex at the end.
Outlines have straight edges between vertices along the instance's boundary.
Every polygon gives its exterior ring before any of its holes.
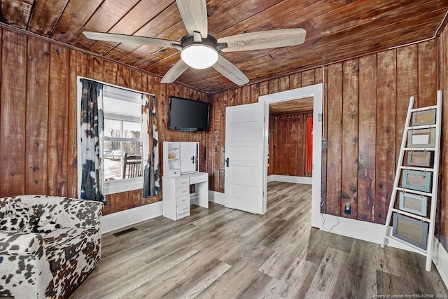
{"type": "Polygon", "coordinates": [[[310,185],[272,182],[264,216],[211,203],[108,233],[101,263],[71,298],[447,295],[419,254],[311,228],[310,210],[310,185]]]}

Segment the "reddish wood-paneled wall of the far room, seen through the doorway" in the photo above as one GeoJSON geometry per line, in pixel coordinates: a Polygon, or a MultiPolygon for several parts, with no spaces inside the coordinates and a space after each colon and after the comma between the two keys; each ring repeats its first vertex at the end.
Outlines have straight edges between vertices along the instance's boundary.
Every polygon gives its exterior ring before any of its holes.
{"type": "Polygon", "coordinates": [[[311,176],[305,173],[307,118],[313,113],[269,116],[267,175],[311,176]]]}

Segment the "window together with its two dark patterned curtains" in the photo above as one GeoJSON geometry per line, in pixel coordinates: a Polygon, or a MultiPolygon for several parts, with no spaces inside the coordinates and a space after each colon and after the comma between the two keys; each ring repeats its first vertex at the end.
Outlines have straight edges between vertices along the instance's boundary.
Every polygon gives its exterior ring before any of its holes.
{"type": "Polygon", "coordinates": [[[77,81],[80,197],[106,202],[104,195],[130,190],[157,195],[155,96],[80,76],[77,81]]]}

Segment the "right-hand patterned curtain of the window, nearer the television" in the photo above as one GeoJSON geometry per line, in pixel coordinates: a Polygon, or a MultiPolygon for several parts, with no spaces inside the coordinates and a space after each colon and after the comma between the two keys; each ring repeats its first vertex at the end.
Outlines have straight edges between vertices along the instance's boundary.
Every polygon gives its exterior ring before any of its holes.
{"type": "Polygon", "coordinates": [[[155,96],[141,96],[141,141],[144,158],[143,197],[158,195],[160,191],[159,144],[155,96]]]}

